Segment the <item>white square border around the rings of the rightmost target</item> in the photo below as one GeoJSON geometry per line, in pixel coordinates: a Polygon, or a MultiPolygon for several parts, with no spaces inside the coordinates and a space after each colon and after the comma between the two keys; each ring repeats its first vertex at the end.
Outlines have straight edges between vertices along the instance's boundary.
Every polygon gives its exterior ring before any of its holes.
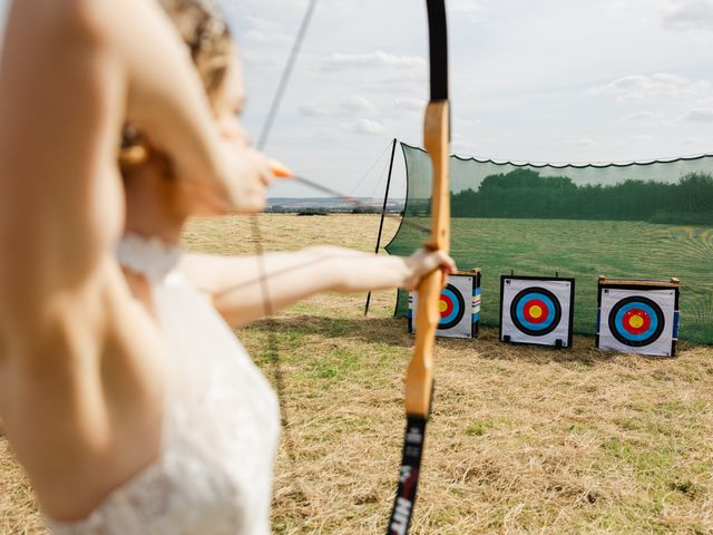
{"type": "Polygon", "coordinates": [[[597,311],[596,347],[604,351],[618,351],[629,354],[646,354],[648,357],[674,357],[678,338],[678,292],[677,288],[599,285],[599,308],[597,311]],[[616,303],[626,298],[647,298],[658,305],[664,315],[664,328],[657,340],[648,346],[627,346],[619,342],[609,329],[611,311],[616,303]]]}

